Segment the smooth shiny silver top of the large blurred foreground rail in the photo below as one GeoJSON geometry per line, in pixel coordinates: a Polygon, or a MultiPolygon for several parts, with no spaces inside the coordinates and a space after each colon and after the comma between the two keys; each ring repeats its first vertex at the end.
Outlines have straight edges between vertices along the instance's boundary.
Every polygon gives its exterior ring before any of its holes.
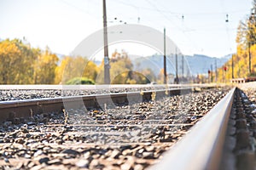
{"type": "Polygon", "coordinates": [[[236,88],[230,90],[183,139],[149,169],[218,169],[236,88]]]}

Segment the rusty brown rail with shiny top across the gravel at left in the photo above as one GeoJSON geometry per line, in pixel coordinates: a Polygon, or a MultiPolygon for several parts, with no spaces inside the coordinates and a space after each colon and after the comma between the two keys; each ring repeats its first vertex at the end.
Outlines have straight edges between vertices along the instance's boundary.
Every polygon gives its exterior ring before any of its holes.
{"type": "Polygon", "coordinates": [[[168,95],[188,94],[193,88],[167,88],[162,90],[151,90],[143,92],[117,93],[117,94],[94,94],[69,97],[43,98],[43,99],[23,99],[0,102],[0,122],[4,120],[14,120],[15,117],[28,117],[33,114],[49,113],[61,111],[63,108],[93,109],[102,107],[101,104],[124,104],[141,102],[168,95]],[[154,94],[154,95],[153,95],[154,94]]]}

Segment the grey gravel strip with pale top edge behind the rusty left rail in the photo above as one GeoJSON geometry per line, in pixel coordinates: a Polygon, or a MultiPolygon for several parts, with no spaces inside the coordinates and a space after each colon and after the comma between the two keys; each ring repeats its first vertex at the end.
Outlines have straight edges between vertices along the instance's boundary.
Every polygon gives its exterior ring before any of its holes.
{"type": "Polygon", "coordinates": [[[94,94],[116,94],[138,91],[162,90],[166,88],[212,88],[220,85],[0,85],[0,101],[42,99],[94,94]]]}

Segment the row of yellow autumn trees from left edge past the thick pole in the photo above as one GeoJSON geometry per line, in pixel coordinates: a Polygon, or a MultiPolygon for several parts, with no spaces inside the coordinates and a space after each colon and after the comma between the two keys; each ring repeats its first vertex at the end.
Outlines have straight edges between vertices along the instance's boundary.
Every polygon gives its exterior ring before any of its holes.
{"type": "MultiPolygon", "coordinates": [[[[148,83],[155,81],[153,71],[132,71],[125,51],[115,51],[110,59],[112,83],[148,83]]],[[[58,56],[47,47],[32,48],[20,39],[0,42],[0,84],[101,84],[104,63],[96,65],[84,56],[58,56]]]]}

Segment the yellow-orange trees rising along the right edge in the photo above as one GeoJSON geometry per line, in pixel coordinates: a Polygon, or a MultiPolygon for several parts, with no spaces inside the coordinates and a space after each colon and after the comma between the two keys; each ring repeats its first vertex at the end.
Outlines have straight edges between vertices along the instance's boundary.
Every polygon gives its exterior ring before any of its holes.
{"type": "Polygon", "coordinates": [[[232,78],[256,77],[255,13],[256,0],[253,0],[251,14],[245,20],[241,20],[237,27],[236,54],[233,54],[232,58],[223,67],[218,68],[218,82],[227,82],[232,78]]]}

